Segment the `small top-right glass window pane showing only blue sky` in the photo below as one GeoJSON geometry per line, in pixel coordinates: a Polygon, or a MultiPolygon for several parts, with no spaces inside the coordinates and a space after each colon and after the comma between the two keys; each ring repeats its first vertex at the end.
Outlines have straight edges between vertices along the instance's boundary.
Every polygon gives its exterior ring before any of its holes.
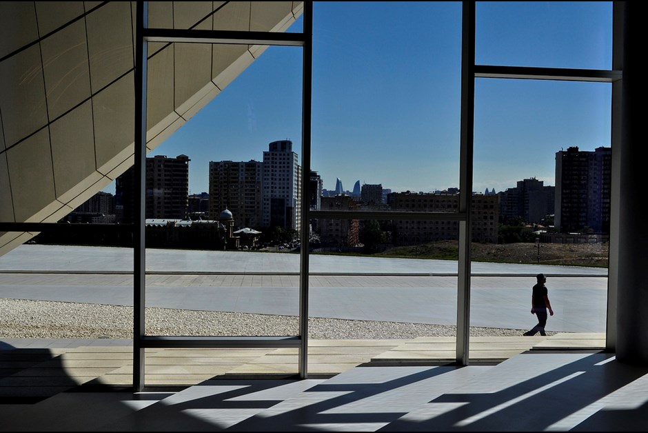
{"type": "Polygon", "coordinates": [[[611,69],[611,1],[478,1],[476,63],[611,69]]]}

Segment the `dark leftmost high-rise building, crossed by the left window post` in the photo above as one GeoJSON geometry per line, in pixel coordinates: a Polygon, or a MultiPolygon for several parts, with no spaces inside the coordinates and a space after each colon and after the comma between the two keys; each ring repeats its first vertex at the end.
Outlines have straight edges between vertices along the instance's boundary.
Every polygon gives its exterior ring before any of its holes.
{"type": "MultiPolygon", "coordinates": [[[[184,219],[189,205],[189,157],[156,155],[145,163],[146,218],[184,219]]],[[[130,223],[134,212],[134,168],[115,181],[117,221],[130,223]]]]}

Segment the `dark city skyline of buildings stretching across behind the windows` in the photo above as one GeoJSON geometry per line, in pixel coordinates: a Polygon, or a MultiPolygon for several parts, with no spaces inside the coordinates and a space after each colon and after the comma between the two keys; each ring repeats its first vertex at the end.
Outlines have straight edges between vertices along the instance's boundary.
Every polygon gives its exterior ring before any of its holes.
{"type": "MultiPolygon", "coordinates": [[[[262,228],[279,227],[298,231],[298,179],[301,175],[296,168],[296,154],[292,152],[290,141],[270,143],[269,150],[264,152],[263,163],[211,161],[210,193],[201,194],[207,196],[208,215],[202,213],[205,212],[204,210],[197,208],[191,210],[188,200],[190,196],[188,195],[187,161],[188,157],[185,155],[181,155],[176,161],[169,160],[167,157],[146,160],[147,167],[151,168],[147,171],[146,177],[147,225],[149,225],[148,219],[154,218],[157,220],[152,221],[153,225],[166,227],[163,230],[156,229],[161,232],[158,233],[161,236],[159,241],[168,243],[176,239],[174,236],[179,236],[179,232],[173,234],[172,227],[175,227],[180,219],[213,222],[215,219],[223,220],[223,214],[232,230],[252,227],[261,230],[257,232],[261,234],[262,228]],[[154,175],[149,176],[149,174],[154,175]],[[209,219],[203,220],[202,217],[205,216],[209,219]],[[168,223],[172,224],[171,228],[168,227],[168,223]]],[[[507,234],[509,230],[499,231],[503,225],[510,223],[520,225],[521,221],[525,222],[527,227],[533,224],[534,230],[536,225],[540,228],[555,228],[556,232],[551,230],[551,234],[545,231],[543,236],[546,239],[556,238],[564,242],[565,234],[573,236],[580,233],[587,234],[587,239],[603,240],[610,232],[611,148],[602,147],[594,152],[580,152],[578,148],[571,147],[567,151],[556,154],[556,161],[556,187],[545,186],[543,181],[537,179],[525,179],[518,181],[516,188],[507,188],[505,192],[496,193],[493,189],[492,192],[486,190],[483,194],[472,195],[472,214],[475,216],[472,221],[472,240],[481,243],[498,243],[504,239],[522,239],[516,237],[522,236],[521,234],[507,234]]],[[[134,190],[132,170],[128,170],[128,173],[130,177],[122,176],[126,179],[118,183],[121,185],[121,194],[118,194],[114,200],[114,213],[119,215],[112,215],[112,218],[118,223],[132,219],[134,201],[127,198],[128,191],[132,194],[134,190]],[[127,188],[125,185],[129,179],[131,185],[127,188]],[[131,217],[127,217],[128,215],[131,217]]],[[[318,176],[311,173],[310,182],[313,181],[319,183],[318,176]]],[[[356,186],[357,183],[354,189],[356,186]]],[[[318,190],[319,188],[321,183],[318,190]]],[[[336,194],[348,192],[343,191],[342,188],[340,179],[336,179],[336,194]]],[[[95,196],[96,200],[92,200],[92,203],[84,203],[88,209],[80,209],[78,214],[73,212],[73,215],[70,215],[72,221],[68,219],[67,222],[83,223],[92,220],[92,222],[105,223],[105,219],[110,215],[101,214],[103,212],[101,210],[88,211],[109,205],[110,201],[103,197],[103,194],[107,193],[99,194],[102,195],[95,196]]],[[[430,210],[456,212],[460,199],[456,191],[449,194],[421,194],[406,191],[387,194],[387,200],[384,201],[385,190],[379,184],[363,185],[359,196],[351,192],[345,196],[319,194],[316,201],[312,200],[312,193],[309,193],[309,196],[310,206],[317,203],[316,209],[356,210],[363,206],[372,207],[383,203],[381,207],[386,205],[392,210],[409,212],[430,210]]],[[[201,201],[202,199],[203,197],[201,201]]],[[[196,204],[194,202],[194,208],[196,204]]],[[[185,223],[182,224],[184,227],[185,223]]],[[[313,233],[317,234],[318,243],[322,247],[355,248],[360,244],[359,221],[344,227],[340,224],[338,219],[318,219],[312,223],[313,233]]],[[[389,238],[389,242],[398,245],[452,240],[456,239],[458,233],[458,221],[441,221],[441,223],[416,221],[414,223],[411,220],[396,219],[389,224],[393,224],[393,228],[382,228],[381,225],[374,227],[374,229],[380,227],[378,230],[385,230],[385,237],[381,243],[385,243],[388,236],[394,233],[396,237],[389,238]]],[[[197,232],[192,233],[197,234],[197,232]]],[[[183,241],[188,239],[183,238],[183,241]]],[[[233,238],[232,242],[234,242],[233,238]]],[[[235,245],[229,241],[223,241],[219,245],[222,247],[226,244],[235,245]]],[[[188,246],[190,243],[183,245],[188,246]]],[[[367,246],[365,243],[367,251],[373,251],[375,246],[376,244],[367,246]]]]}

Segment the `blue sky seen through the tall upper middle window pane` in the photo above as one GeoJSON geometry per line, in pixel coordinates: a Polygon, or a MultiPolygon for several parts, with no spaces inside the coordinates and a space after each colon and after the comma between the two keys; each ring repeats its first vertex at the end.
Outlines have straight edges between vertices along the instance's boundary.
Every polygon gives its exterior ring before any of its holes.
{"type": "Polygon", "coordinates": [[[323,196],[458,188],[460,16],[452,2],[314,4],[312,169],[323,196]]]}

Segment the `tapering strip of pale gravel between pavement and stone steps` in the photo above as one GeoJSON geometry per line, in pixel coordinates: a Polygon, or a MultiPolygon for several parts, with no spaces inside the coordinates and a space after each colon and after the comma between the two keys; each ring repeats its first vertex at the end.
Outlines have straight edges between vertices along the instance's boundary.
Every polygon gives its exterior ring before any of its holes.
{"type": "MultiPolygon", "coordinates": [[[[132,339],[133,308],[119,305],[0,299],[0,337],[132,339]]],[[[147,308],[148,335],[279,336],[298,334],[296,316],[147,308]]],[[[526,330],[471,327],[471,336],[520,336],[526,330]]],[[[413,339],[455,336],[454,325],[311,317],[312,339],[413,339]]],[[[547,331],[547,335],[556,332],[547,331]]]]}

